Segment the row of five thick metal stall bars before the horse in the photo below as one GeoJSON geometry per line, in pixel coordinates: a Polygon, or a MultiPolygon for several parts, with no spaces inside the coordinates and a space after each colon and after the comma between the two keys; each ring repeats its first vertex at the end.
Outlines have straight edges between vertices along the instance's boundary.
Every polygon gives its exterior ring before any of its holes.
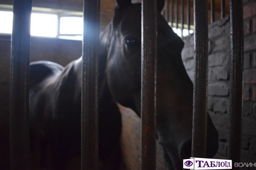
{"type": "MultiPolygon", "coordinates": [[[[212,0],[213,1],[213,0],[212,0]]],[[[222,0],[223,2],[223,0],[222,0]]],[[[206,156],[208,87],[207,0],[194,0],[194,91],[192,157],[206,156]]],[[[11,169],[30,169],[29,64],[32,0],[14,0],[11,37],[10,145],[11,169]]],[[[98,47],[100,0],[84,0],[82,55],[82,170],[98,170],[98,47]],[[90,75],[90,76],[89,76],[90,75]],[[91,76],[93,75],[93,76],[91,76]],[[88,114],[94,113],[94,114],[88,114]],[[86,131],[85,129],[90,129],[86,131]]],[[[214,17],[212,17],[214,21],[214,17]]],[[[188,21],[189,22],[189,21],[188,21]]],[[[228,158],[240,160],[243,32],[242,0],[230,0],[230,107],[228,158]]],[[[188,24],[190,25],[190,24],[188,24]]],[[[142,136],[141,169],[155,170],[157,0],[142,0],[142,136]],[[146,69],[154,71],[146,71],[146,69]],[[151,77],[153,79],[145,79],[151,77]],[[148,105],[147,103],[154,103],[148,105]],[[149,128],[150,127],[150,128],[149,128]],[[147,153],[147,154],[145,154],[147,153]]],[[[234,167],[233,169],[239,169],[234,167]]]]}

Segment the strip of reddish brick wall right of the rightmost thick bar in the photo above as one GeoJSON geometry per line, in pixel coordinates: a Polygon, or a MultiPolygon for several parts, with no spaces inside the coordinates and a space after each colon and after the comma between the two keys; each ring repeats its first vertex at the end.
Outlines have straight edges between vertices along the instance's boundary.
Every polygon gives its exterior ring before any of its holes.
{"type": "Polygon", "coordinates": [[[256,160],[256,0],[244,0],[244,138],[242,153],[256,160]]]}

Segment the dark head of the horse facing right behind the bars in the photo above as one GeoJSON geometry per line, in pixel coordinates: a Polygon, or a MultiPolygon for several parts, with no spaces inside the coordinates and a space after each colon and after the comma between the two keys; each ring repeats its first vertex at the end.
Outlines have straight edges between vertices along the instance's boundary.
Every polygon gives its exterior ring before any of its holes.
{"type": "MultiPolygon", "coordinates": [[[[182,169],[182,159],[191,157],[193,83],[181,59],[184,42],[157,13],[157,139],[167,166],[182,169]]],[[[117,0],[114,17],[101,33],[107,55],[106,76],[116,102],[140,116],[141,109],[141,3],[117,0]]],[[[103,50],[104,51],[104,50],[103,50]]],[[[208,114],[208,113],[207,113],[208,114]]],[[[218,150],[218,132],[208,115],[206,157],[218,150]]]]}

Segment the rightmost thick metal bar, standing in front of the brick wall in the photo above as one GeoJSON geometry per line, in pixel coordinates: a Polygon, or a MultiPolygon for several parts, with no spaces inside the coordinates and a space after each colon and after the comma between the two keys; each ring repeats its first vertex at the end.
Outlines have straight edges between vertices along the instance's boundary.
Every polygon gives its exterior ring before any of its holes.
{"type": "MultiPolygon", "coordinates": [[[[230,0],[230,94],[227,156],[240,162],[244,75],[243,1],[230,0]]],[[[233,167],[238,170],[239,167],[233,167]]]]}

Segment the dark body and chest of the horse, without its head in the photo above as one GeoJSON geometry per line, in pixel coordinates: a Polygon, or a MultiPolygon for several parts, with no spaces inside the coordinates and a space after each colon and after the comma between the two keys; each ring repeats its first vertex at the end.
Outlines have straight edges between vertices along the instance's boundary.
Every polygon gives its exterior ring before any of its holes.
{"type": "MultiPolygon", "coordinates": [[[[100,169],[120,167],[121,114],[99,62],[100,169]]],[[[80,168],[82,58],[65,68],[57,63],[30,63],[29,120],[32,169],[80,168]]]]}

